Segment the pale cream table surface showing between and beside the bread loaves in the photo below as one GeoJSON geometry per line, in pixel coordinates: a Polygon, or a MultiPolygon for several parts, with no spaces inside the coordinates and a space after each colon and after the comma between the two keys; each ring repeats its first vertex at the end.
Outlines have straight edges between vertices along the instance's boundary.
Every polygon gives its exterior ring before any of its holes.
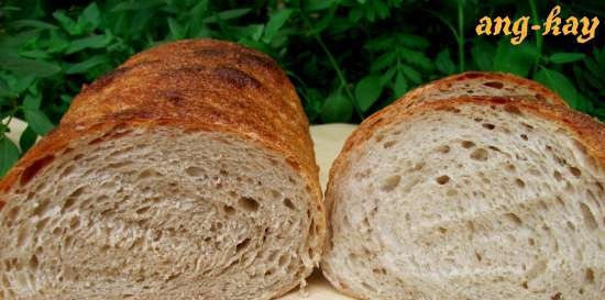
{"type": "MultiPolygon", "coordinates": [[[[3,120],[6,122],[6,120],[3,120]]],[[[25,130],[25,122],[19,119],[12,119],[9,127],[11,131],[7,136],[19,145],[19,138],[25,130]]],[[[317,164],[319,165],[319,180],[322,189],[326,189],[328,175],[332,162],[340,153],[342,144],[346,136],[355,129],[350,124],[326,124],[311,126],[311,136],[315,143],[315,153],[317,164]]],[[[295,289],[278,300],[353,300],[353,298],[339,293],[321,276],[319,270],[307,279],[307,286],[304,289],[295,289]]]]}

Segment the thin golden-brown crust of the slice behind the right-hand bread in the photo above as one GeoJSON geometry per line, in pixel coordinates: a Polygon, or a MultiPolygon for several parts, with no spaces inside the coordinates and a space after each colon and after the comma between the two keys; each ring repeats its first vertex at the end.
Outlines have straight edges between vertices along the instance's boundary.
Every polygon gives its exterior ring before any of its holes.
{"type": "MultiPolygon", "coordinates": [[[[422,95],[429,91],[443,91],[449,90],[454,82],[466,81],[466,80],[476,80],[482,79],[486,82],[484,85],[501,89],[505,85],[510,86],[524,86],[526,89],[531,90],[534,95],[528,95],[529,99],[538,99],[551,104],[564,105],[568,107],[568,103],[559,97],[556,92],[548,89],[547,87],[524,77],[519,77],[508,73],[497,73],[497,71],[465,71],[461,74],[451,75],[424,86],[420,86],[404,97],[399,98],[397,102],[404,102],[407,107],[418,103],[422,95]]],[[[517,96],[519,97],[519,96],[517,96]]]]}

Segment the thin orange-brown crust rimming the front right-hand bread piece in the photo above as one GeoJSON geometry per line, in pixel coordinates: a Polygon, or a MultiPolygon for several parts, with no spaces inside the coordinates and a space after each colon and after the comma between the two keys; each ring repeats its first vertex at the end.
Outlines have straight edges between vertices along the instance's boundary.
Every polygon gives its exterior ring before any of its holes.
{"type": "MultiPolygon", "coordinates": [[[[420,102],[415,104],[413,109],[409,109],[405,103],[406,101],[399,100],[382,111],[374,113],[364,120],[344,143],[341,153],[330,168],[330,177],[324,197],[328,220],[331,220],[334,201],[337,201],[334,199],[334,190],[337,186],[340,185],[338,175],[342,174],[350,164],[353,163],[350,160],[351,154],[360,149],[362,144],[369,141],[377,130],[387,129],[407,118],[437,110],[455,111],[458,107],[465,104],[487,105],[494,109],[501,107],[510,113],[527,113],[544,120],[550,120],[560,127],[568,130],[573,138],[584,146],[586,153],[594,157],[595,162],[601,167],[605,166],[605,124],[590,115],[570,110],[559,104],[540,103],[514,97],[460,97],[441,101],[420,102]]],[[[332,227],[329,223],[327,238],[331,238],[331,234],[332,227]]],[[[330,243],[327,243],[327,248],[324,251],[330,251],[330,243]]],[[[343,287],[337,274],[330,274],[327,271],[327,268],[322,268],[322,273],[332,286],[343,293],[353,296],[358,299],[364,299],[353,290],[343,287]]]]}

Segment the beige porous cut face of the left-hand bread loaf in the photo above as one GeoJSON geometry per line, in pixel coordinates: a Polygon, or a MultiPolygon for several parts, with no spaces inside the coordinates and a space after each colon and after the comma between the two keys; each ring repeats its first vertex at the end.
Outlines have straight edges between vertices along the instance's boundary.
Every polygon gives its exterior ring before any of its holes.
{"type": "Polygon", "coordinates": [[[311,196],[284,157],[226,133],[120,135],[8,195],[0,299],[268,299],[310,273],[311,196]]]}

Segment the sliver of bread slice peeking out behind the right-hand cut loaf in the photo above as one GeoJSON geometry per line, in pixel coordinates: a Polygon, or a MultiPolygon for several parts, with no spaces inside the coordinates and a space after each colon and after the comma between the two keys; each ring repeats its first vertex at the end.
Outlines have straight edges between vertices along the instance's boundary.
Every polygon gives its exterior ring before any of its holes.
{"type": "Polygon", "coordinates": [[[424,101],[438,101],[464,96],[516,97],[550,104],[568,105],[557,93],[534,80],[513,74],[495,71],[465,71],[448,76],[411,90],[398,101],[411,107],[424,101]]]}

